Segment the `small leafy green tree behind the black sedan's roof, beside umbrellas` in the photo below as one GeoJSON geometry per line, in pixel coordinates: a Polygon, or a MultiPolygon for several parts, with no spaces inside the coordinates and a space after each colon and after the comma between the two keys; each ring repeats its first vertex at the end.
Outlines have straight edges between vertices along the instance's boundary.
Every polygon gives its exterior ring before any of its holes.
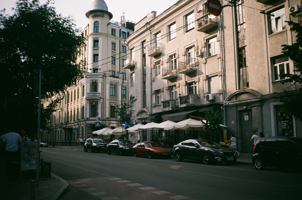
{"type": "Polygon", "coordinates": [[[206,127],[205,132],[217,141],[222,135],[220,124],[223,122],[223,117],[219,110],[203,110],[203,112],[206,122],[203,122],[202,118],[200,120],[206,127]]]}

